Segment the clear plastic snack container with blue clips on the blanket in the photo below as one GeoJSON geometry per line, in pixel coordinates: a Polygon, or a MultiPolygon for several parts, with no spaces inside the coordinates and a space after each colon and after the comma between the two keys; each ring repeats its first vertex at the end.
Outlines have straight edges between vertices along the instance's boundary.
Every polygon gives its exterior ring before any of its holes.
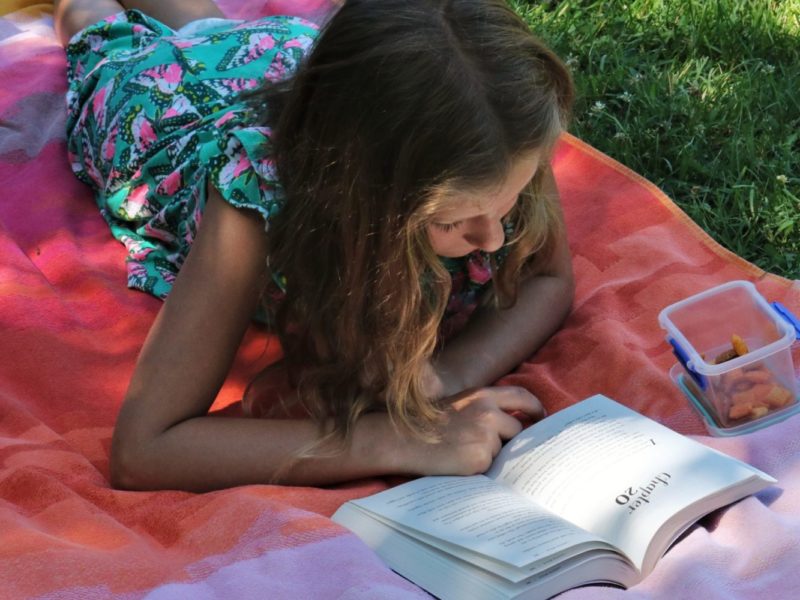
{"type": "Polygon", "coordinates": [[[792,357],[800,322],[752,283],[731,281],[676,302],[658,321],[678,358],[670,376],[712,435],[753,431],[800,411],[792,357]]]}

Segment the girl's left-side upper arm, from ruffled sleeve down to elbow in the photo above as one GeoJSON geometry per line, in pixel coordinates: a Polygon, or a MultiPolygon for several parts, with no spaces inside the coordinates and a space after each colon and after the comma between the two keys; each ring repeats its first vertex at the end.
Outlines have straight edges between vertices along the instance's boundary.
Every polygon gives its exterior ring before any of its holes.
{"type": "Polygon", "coordinates": [[[209,190],[197,238],[139,355],[118,448],[208,410],[255,314],[265,253],[263,219],[209,190]]]}

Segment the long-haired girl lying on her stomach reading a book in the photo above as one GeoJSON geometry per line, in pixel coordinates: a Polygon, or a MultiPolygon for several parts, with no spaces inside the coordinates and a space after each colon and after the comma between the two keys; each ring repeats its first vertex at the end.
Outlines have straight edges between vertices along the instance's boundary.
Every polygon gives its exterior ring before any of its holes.
{"type": "Polygon", "coordinates": [[[543,412],[486,386],[572,298],[548,167],[569,75],[503,0],[348,0],[321,32],[202,20],[221,16],[56,2],[73,169],[129,285],[166,298],[113,485],[484,471],[522,427],[510,413],[543,412]],[[311,419],[208,414],[257,310],[311,419]]]}

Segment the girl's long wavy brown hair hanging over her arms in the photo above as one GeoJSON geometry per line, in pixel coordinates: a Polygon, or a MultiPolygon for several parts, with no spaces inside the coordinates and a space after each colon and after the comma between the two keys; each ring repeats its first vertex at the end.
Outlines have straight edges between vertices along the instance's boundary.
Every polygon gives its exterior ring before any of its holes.
{"type": "MultiPolygon", "coordinates": [[[[501,181],[547,149],[573,96],[568,72],[502,0],[348,0],[306,62],[250,96],[274,130],[285,204],[269,269],[286,278],[276,326],[309,413],[349,437],[385,407],[423,435],[423,392],[450,292],[427,226],[448,192],[501,181]]],[[[509,215],[501,305],[556,219],[537,178],[509,215]]]]}

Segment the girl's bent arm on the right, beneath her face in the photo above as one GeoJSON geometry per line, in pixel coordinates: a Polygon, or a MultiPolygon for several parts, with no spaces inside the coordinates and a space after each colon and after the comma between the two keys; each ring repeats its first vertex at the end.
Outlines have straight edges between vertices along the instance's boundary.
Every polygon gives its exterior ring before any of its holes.
{"type": "MultiPolygon", "coordinates": [[[[549,168],[543,193],[551,196],[563,222],[558,189],[549,168]]],[[[489,385],[529,358],[569,314],[574,287],[572,259],[566,235],[562,235],[549,261],[520,283],[514,306],[482,308],[439,353],[433,364],[434,393],[447,397],[489,385]]]]}

